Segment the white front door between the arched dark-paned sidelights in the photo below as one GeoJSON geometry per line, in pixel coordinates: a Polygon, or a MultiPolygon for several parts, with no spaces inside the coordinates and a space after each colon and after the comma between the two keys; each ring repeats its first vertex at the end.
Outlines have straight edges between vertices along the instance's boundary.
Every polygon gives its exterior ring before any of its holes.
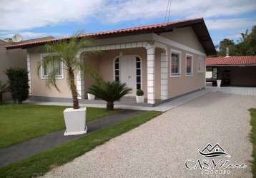
{"type": "Polygon", "coordinates": [[[127,87],[132,88],[132,93],[126,96],[136,95],[136,58],[135,56],[120,57],[120,79],[126,83],[127,87]]]}

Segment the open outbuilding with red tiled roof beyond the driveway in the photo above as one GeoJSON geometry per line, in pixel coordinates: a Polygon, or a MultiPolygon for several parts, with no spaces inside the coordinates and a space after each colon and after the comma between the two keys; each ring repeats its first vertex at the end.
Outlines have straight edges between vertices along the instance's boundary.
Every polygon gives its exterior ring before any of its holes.
{"type": "Polygon", "coordinates": [[[207,58],[206,68],[207,81],[213,85],[221,79],[222,86],[256,86],[256,56],[207,58]]]}

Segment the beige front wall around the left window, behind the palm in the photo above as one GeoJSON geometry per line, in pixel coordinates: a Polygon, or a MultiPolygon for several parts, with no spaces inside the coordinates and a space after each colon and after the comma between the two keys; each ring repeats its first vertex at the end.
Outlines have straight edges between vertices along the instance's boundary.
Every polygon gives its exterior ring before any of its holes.
{"type": "Polygon", "coordinates": [[[30,55],[31,62],[31,95],[56,98],[72,98],[72,94],[67,83],[67,71],[64,70],[63,79],[56,80],[56,85],[58,86],[60,92],[52,86],[49,88],[46,85],[46,80],[41,79],[41,70],[39,72],[40,76],[37,74],[37,66],[41,62],[41,53],[43,53],[43,51],[38,51],[36,48],[30,48],[28,53],[30,55]]]}

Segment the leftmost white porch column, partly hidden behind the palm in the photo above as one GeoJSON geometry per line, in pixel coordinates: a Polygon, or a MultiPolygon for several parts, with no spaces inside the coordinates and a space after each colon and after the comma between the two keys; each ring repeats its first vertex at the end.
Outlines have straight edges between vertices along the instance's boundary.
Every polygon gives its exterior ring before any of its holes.
{"type": "MultiPolygon", "coordinates": [[[[77,54],[77,59],[81,60],[80,53],[77,54]]],[[[79,70],[77,71],[77,93],[78,99],[84,99],[84,71],[79,70]]]]}

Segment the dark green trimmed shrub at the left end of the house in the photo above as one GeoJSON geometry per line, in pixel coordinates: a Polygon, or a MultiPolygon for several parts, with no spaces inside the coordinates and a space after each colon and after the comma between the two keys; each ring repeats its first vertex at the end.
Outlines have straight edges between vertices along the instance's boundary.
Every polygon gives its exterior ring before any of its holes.
{"type": "Polygon", "coordinates": [[[29,95],[29,78],[25,68],[9,68],[5,71],[9,78],[11,98],[14,103],[22,103],[29,95]]]}

